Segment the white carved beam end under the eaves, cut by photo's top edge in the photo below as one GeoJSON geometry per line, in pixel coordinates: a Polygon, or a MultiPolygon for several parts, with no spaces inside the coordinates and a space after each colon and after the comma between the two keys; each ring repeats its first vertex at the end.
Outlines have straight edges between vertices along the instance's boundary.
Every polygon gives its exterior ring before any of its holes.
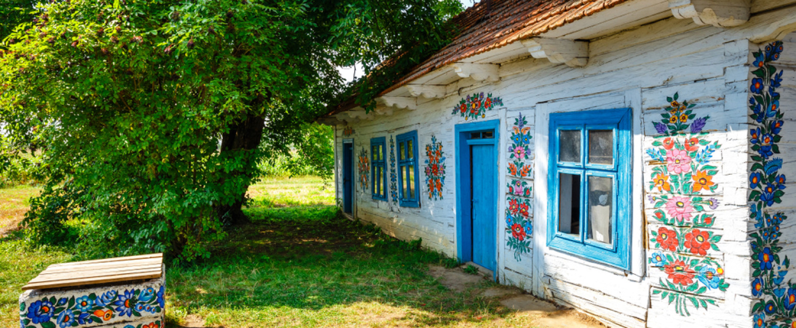
{"type": "Polygon", "coordinates": [[[669,0],[674,17],[692,18],[698,25],[731,27],[749,20],[751,0],[669,0]]]}

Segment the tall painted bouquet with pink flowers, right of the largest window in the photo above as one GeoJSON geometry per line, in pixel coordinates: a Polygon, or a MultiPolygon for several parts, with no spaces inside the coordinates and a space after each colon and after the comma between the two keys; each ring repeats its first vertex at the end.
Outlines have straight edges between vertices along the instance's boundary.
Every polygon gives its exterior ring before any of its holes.
{"type": "Polygon", "coordinates": [[[668,298],[677,314],[690,315],[689,307],[708,309],[708,304],[716,305],[704,294],[714,289],[726,291],[729,284],[724,281],[721,264],[707,257],[709,252],[719,251],[721,235],[704,229],[716,223],[707,210],[715,210],[719,203],[700,195],[715,192],[718,187],[713,182],[718,168],[710,160],[721,145],[705,139],[708,133],[702,129],[709,117],[693,120],[696,114],[691,108],[695,105],[678,102],[678,98],[677,94],[666,98],[670,106],[662,114],[664,121],[654,123],[661,136],[655,137],[654,148],[646,151],[654,164],[650,191],[662,194],[649,197],[654,218],[662,226],[650,230],[650,244],[661,250],[647,262],[665,275],[654,295],[668,298]]]}

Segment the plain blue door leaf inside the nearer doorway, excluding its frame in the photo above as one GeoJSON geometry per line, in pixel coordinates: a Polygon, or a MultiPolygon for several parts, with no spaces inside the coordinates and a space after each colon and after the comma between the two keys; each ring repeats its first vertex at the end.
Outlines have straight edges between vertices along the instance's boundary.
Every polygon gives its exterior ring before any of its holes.
{"type": "MultiPolygon", "coordinates": [[[[468,142],[469,143],[469,142],[468,142]]],[[[493,144],[470,145],[473,262],[495,269],[497,247],[497,174],[493,144]]]]}

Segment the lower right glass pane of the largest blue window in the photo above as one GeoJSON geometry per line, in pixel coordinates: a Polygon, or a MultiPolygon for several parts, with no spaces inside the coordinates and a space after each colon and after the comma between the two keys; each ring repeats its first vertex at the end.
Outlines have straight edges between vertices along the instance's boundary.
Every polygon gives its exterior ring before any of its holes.
{"type": "Polygon", "coordinates": [[[589,176],[588,238],[611,245],[614,213],[614,179],[589,176]]]}

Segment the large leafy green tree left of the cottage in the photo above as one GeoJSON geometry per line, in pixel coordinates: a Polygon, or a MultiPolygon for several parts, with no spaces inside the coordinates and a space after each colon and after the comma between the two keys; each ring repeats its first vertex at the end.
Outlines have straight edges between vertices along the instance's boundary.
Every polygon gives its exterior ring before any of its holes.
{"type": "MultiPolygon", "coordinates": [[[[205,242],[244,219],[258,160],[300,143],[342,96],[336,67],[370,71],[400,54],[370,75],[384,83],[445,43],[436,4],[38,3],[0,54],[6,147],[43,151],[29,235],[64,240],[72,220],[82,244],[106,253],[207,256],[205,242]]],[[[368,102],[377,87],[361,85],[368,102]]]]}

